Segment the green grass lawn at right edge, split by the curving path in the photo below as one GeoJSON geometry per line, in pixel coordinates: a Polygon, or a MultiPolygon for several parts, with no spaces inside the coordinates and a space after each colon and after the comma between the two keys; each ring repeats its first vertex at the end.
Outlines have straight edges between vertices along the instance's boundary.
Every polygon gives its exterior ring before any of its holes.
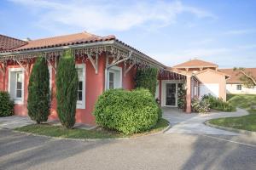
{"type": "Polygon", "coordinates": [[[251,109],[252,105],[256,105],[256,95],[228,94],[227,99],[231,105],[246,109],[250,114],[241,117],[213,119],[210,123],[223,127],[232,127],[256,132],[256,110],[251,109]]]}

